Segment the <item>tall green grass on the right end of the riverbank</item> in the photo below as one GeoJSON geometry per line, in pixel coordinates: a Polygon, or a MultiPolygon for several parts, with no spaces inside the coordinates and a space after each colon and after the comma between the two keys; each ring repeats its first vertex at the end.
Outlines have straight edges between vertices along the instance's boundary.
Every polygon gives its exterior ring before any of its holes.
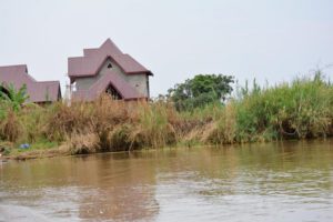
{"type": "Polygon", "coordinates": [[[332,85],[317,77],[266,89],[254,85],[235,104],[238,140],[326,137],[332,99],[332,85]]]}

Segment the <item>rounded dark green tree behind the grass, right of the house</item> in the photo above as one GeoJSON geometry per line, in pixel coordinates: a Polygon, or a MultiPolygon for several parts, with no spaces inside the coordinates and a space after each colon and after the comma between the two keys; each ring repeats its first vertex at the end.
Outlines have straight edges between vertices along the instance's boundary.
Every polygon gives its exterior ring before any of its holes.
{"type": "Polygon", "coordinates": [[[179,111],[204,107],[212,102],[224,102],[226,95],[232,92],[230,84],[233,82],[232,75],[198,74],[169,89],[168,98],[179,111]]]}

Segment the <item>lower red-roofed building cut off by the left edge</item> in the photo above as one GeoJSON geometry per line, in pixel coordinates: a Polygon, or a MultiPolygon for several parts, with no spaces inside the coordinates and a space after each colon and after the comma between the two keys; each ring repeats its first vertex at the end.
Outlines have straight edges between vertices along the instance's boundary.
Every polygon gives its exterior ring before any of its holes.
{"type": "Polygon", "coordinates": [[[7,92],[9,85],[19,90],[26,84],[28,102],[48,103],[61,100],[59,81],[37,81],[29,73],[27,64],[0,67],[1,90],[7,92]]]}

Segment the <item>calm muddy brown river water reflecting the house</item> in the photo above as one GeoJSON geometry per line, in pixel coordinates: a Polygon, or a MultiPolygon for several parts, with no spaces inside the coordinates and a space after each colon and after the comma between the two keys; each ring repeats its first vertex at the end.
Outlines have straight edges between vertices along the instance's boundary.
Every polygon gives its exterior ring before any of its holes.
{"type": "Polygon", "coordinates": [[[0,221],[333,221],[333,141],[0,163],[0,221]]]}

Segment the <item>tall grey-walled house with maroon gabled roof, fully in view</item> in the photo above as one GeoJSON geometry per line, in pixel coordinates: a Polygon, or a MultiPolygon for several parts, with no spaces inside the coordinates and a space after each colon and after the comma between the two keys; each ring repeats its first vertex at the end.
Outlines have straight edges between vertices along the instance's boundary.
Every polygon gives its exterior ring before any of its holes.
{"type": "Polygon", "coordinates": [[[108,39],[100,48],[83,49],[83,57],[68,59],[73,100],[92,101],[101,93],[114,99],[149,99],[152,72],[124,54],[108,39]]]}

